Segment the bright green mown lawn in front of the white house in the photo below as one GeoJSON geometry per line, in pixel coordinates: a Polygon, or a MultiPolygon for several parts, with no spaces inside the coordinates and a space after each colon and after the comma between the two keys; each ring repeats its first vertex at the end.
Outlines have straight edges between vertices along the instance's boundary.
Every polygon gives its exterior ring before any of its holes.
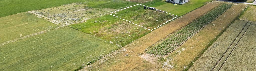
{"type": "Polygon", "coordinates": [[[199,8],[206,3],[210,2],[212,0],[190,0],[188,3],[185,3],[183,5],[173,5],[172,3],[157,3],[157,4],[163,4],[160,6],[156,6],[156,9],[163,10],[178,16],[184,15],[192,10],[195,10],[196,8],[199,8]]]}

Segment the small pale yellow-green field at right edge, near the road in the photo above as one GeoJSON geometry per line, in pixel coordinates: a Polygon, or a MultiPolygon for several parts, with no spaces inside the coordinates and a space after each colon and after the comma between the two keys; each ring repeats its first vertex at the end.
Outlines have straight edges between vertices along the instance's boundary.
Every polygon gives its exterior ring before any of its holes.
{"type": "Polygon", "coordinates": [[[249,6],[239,19],[256,22],[256,6],[249,6]]]}

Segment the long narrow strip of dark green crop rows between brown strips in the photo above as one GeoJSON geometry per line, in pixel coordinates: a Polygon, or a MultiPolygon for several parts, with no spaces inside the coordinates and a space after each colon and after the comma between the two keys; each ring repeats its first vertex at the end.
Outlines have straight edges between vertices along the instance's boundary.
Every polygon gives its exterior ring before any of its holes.
{"type": "Polygon", "coordinates": [[[219,15],[223,14],[230,7],[232,7],[232,5],[229,4],[222,4],[218,6],[196,21],[190,23],[188,26],[174,33],[160,44],[150,47],[146,53],[154,54],[155,56],[165,56],[169,54],[194,34],[196,34],[196,32],[202,29],[205,25],[209,24],[211,21],[214,21],[219,15]]]}

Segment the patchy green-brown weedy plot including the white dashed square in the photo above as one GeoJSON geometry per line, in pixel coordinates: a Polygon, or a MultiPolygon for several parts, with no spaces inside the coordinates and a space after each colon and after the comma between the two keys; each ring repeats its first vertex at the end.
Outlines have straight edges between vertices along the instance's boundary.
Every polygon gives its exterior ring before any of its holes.
{"type": "Polygon", "coordinates": [[[105,15],[85,23],[70,25],[70,27],[125,46],[151,32],[148,29],[153,29],[174,18],[173,15],[143,8],[134,6],[113,14],[118,17],[105,15]],[[134,24],[126,22],[126,20],[134,24]]]}

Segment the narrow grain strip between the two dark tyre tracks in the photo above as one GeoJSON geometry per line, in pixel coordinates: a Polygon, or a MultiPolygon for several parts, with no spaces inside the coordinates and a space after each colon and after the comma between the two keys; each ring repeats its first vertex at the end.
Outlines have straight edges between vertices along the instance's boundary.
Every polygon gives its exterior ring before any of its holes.
{"type": "Polygon", "coordinates": [[[218,71],[222,67],[222,65],[226,62],[234,48],[237,46],[241,38],[243,37],[244,33],[247,31],[248,27],[250,26],[251,22],[248,22],[244,29],[240,32],[240,34],[237,36],[236,40],[231,44],[230,47],[226,50],[226,52],[223,54],[223,56],[219,59],[218,63],[216,66],[212,69],[213,71],[218,71]]]}

